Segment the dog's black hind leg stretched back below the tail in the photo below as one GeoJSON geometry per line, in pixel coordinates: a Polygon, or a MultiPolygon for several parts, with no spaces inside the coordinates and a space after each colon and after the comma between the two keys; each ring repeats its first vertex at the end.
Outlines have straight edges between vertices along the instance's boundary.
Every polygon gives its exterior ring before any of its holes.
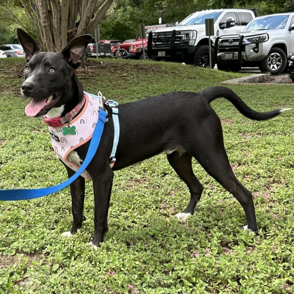
{"type": "MultiPolygon", "coordinates": [[[[213,118],[211,123],[213,123],[213,118]]],[[[257,225],[252,194],[236,179],[232,171],[223,145],[219,119],[213,125],[203,126],[196,137],[193,150],[188,146],[186,149],[190,151],[208,174],[235,196],[245,211],[248,228],[256,232],[257,225]]],[[[191,144],[191,141],[189,144],[191,144]]]]}

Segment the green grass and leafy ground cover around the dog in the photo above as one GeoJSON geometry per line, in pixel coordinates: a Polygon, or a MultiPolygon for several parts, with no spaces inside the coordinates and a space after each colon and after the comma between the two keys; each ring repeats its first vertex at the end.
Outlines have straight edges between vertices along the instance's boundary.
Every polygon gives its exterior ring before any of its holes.
{"type": "MultiPolygon", "coordinates": [[[[163,62],[92,63],[88,72],[79,72],[84,90],[102,91],[119,103],[200,91],[242,76],[163,62]]],[[[0,189],[66,179],[43,119],[25,116],[22,74],[17,75],[23,65],[20,59],[0,61],[0,189]]],[[[230,88],[258,111],[294,107],[293,85],[230,88]]],[[[40,199],[0,202],[0,293],[132,293],[128,285],[140,294],[294,293],[294,112],[256,122],[225,99],[212,106],[222,120],[235,174],[255,195],[258,235],[242,230],[241,206],[197,162],[201,202],[186,224],[178,223],[174,215],[186,207],[189,191],[161,154],[115,172],[109,231],[98,250],[87,245],[93,234],[91,182],[87,220],[69,239],[61,238],[72,222],[69,188],[40,199]],[[19,282],[29,280],[22,290],[19,282]]]]}

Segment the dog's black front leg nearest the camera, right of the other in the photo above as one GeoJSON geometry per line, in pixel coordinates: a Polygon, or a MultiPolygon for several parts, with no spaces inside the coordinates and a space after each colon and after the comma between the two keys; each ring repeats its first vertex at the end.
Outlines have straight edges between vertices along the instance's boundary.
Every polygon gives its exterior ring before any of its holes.
{"type": "Polygon", "coordinates": [[[110,194],[113,181],[113,171],[106,168],[101,173],[91,175],[93,180],[95,214],[94,214],[94,236],[92,244],[100,246],[103,241],[104,234],[108,230],[107,215],[110,201],[110,194]]]}

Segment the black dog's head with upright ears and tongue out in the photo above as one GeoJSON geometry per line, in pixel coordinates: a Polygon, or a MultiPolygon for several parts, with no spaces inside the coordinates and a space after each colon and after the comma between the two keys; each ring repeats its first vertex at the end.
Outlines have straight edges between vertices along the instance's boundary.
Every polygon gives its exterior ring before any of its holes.
{"type": "Polygon", "coordinates": [[[51,108],[64,105],[71,98],[74,70],[83,63],[83,55],[91,35],[78,36],[61,52],[41,52],[35,40],[21,29],[17,36],[26,54],[25,81],[21,85],[27,116],[43,116],[51,108]]]}

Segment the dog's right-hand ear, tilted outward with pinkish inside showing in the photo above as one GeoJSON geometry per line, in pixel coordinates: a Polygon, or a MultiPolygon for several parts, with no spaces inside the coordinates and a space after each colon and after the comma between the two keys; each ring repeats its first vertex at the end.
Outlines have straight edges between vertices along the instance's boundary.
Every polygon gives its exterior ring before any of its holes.
{"type": "Polygon", "coordinates": [[[83,63],[83,56],[86,52],[87,45],[91,42],[91,35],[82,35],[71,40],[61,51],[65,60],[74,69],[83,63]]]}

